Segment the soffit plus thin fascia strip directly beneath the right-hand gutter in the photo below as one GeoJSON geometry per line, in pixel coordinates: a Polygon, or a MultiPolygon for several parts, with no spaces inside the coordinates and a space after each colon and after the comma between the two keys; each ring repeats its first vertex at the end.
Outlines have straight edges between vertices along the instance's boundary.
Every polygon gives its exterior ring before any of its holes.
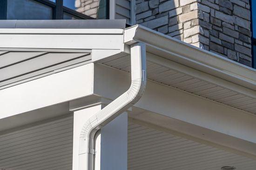
{"type": "MultiPolygon", "coordinates": [[[[129,54],[105,58],[101,63],[130,72],[129,54]]],[[[147,77],[151,81],[256,114],[255,91],[149,52],[147,77]]]]}

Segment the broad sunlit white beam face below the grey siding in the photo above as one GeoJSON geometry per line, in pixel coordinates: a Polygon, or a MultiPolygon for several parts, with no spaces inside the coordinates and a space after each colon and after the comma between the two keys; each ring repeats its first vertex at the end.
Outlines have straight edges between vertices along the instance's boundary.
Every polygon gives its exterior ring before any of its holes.
{"type": "Polygon", "coordinates": [[[0,90],[0,119],[93,94],[94,63],[0,90]]]}

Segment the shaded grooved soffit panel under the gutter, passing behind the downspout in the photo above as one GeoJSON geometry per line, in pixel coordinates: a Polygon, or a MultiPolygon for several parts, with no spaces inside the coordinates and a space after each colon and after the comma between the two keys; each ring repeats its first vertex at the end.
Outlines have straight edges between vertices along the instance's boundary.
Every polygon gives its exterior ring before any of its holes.
{"type": "MultiPolygon", "coordinates": [[[[224,88],[212,82],[203,80],[200,75],[191,76],[165,65],[158,63],[157,59],[150,61],[150,53],[147,53],[147,77],[149,80],[158,82],[167,86],[179,88],[192,94],[223,103],[225,105],[256,114],[256,99],[234,90],[224,88]]],[[[155,55],[153,55],[154,57],[155,55]]],[[[165,59],[166,60],[166,59],[165,59]]],[[[108,66],[130,72],[130,56],[108,58],[101,61],[108,66]]],[[[182,67],[186,67],[182,65],[182,67]]],[[[188,67],[187,67],[188,68],[188,67]]],[[[191,68],[189,68],[191,69],[191,68]]]]}

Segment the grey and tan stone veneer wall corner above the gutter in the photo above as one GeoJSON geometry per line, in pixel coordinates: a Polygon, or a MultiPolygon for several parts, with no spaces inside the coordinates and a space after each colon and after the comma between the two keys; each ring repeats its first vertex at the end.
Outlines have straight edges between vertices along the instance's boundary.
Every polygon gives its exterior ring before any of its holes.
{"type": "Polygon", "coordinates": [[[136,24],[251,66],[249,0],[136,0],[136,24]]]}

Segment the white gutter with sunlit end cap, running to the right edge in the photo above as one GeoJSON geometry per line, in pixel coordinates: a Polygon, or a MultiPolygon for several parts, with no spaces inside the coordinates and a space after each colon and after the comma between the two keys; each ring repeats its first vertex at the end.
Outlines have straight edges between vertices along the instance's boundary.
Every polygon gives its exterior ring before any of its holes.
{"type": "Polygon", "coordinates": [[[124,43],[143,42],[147,51],[240,86],[256,90],[256,69],[150,30],[141,25],[125,29],[124,43]]]}

